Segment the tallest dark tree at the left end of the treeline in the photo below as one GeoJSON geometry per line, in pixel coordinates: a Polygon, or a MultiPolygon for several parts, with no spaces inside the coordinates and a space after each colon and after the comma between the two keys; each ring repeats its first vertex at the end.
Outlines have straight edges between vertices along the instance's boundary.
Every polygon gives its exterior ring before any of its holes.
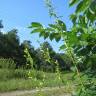
{"type": "Polygon", "coordinates": [[[12,58],[18,64],[19,37],[17,30],[13,29],[5,34],[0,33],[0,57],[12,58]]]}

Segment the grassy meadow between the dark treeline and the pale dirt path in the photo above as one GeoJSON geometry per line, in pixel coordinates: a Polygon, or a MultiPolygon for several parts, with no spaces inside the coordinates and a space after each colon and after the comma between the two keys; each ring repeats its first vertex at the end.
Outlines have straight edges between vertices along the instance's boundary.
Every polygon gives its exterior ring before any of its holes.
{"type": "MultiPolygon", "coordinates": [[[[27,78],[28,70],[17,69],[0,69],[0,92],[7,92],[13,90],[28,90],[34,89],[40,86],[40,82],[43,81],[41,71],[32,71],[32,78],[27,78]],[[34,75],[36,74],[36,75],[34,75]],[[37,78],[37,79],[35,79],[37,78]]],[[[64,73],[62,75],[64,82],[56,78],[55,73],[44,73],[45,80],[42,87],[55,87],[66,85],[67,79],[72,76],[72,73],[64,73]]],[[[70,80],[71,81],[71,80],[70,80]]]]}

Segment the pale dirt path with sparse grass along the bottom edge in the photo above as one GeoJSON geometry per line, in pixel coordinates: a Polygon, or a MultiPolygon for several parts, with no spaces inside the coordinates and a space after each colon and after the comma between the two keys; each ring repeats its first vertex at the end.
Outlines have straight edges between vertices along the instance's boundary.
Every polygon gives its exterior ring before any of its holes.
{"type": "Polygon", "coordinates": [[[71,90],[65,87],[46,87],[42,89],[22,90],[0,93],[0,96],[71,96],[71,90]]]}

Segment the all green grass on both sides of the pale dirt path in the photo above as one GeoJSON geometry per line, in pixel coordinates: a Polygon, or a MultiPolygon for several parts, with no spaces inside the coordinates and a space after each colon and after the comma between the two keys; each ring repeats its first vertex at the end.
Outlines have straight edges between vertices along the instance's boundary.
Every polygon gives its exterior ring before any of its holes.
{"type": "MultiPolygon", "coordinates": [[[[36,89],[37,87],[57,87],[57,86],[66,86],[64,89],[55,89],[37,92],[34,94],[24,94],[22,96],[64,96],[64,93],[72,92],[72,85],[78,84],[78,80],[72,80],[72,72],[63,72],[61,74],[62,81],[57,79],[56,73],[46,73],[42,71],[31,71],[32,78],[28,78],[29,70],[23,69],[0,69],[0,93],[7,91],[15,91],[15,90],[31,90],[36,89]],[[43,81],[43,74],[45,74],[45,78],[43,81]],[[43,82],[41,86],[40,83],[43,82]]],[[[82,73],[81,73],[82,74],[82,73]]],[[[75,77],[77,78],[77,77],[75,77]]],[[[77,78],[78,79],[78,78],[77,78]]],[[[84,76],[82,80],[85,82],[87,80],[87,76],[84,76]]],[[[96,78],[93,79],[96,83],[96,78]]],[[[76,88],[76,87],[75,87],[76,88]]],[[[75,90],[73,88],[73,90],[75,90]]]]}

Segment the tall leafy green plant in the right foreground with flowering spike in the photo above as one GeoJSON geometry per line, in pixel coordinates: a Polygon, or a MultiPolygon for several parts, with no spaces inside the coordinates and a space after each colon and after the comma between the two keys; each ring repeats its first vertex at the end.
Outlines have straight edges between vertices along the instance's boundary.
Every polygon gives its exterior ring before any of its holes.
{"type": "MultiPolygon", "coordinates": [[[[60,49],[70,56],[74,65],[73,71],[78,77],[76,96],[96,96],[96,86],[92,78],[89,78],[88,71],[85,82],[78,69],[78,64],[84,64],[87,59],[96,55],[96,0],[70,0],[69,6],[76,6],[75,12],[70,15],[73,23],[71,30],[57,16],[51,0],[46,0],[46,5],[50,16],[55,18],[55,23],[48,24],[45,28],[38,22],[32,22],[32,33],[38,32],[45,39],[55,39],[57,42],[62,40],[64,43],[60,49]]],[[[86,69],[92,70],[93,66],[96,67],[95,64],[87,64],[84,65],[86,69]]]]}

